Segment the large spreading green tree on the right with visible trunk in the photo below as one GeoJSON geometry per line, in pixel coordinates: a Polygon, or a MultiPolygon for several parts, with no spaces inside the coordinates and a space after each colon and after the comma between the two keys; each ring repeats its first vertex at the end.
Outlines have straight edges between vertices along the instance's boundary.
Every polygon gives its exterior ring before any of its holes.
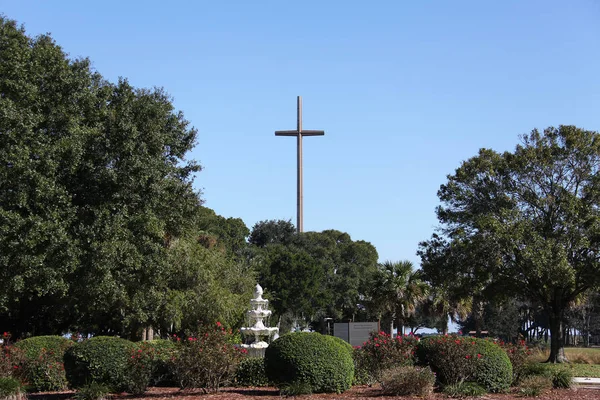
{"type": "Polygon", "coordinates": [[[598,133],[573,126],[534,130],[512,153],[480,150],[438,192],[444,239],[422,244],[424,268],[442,265],[431,255],[462,253],[446,264],[457,275],[543,305],[549,361],[564,361],[565,311],[600,280],[599,166],[598,133]]]}

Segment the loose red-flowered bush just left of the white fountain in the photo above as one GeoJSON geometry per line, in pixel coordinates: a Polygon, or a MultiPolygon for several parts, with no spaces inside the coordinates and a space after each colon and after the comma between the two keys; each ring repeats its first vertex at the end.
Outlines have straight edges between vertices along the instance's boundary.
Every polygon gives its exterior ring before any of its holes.
{"type": "Polygon", "coordinates": [[[205,327],[197,335],[178,342],[173,368],[179,386],[209,393],[229,383],[247,352],[232,343],[232,336],[231,330],[217,322],[216,327],[205,327]]]}

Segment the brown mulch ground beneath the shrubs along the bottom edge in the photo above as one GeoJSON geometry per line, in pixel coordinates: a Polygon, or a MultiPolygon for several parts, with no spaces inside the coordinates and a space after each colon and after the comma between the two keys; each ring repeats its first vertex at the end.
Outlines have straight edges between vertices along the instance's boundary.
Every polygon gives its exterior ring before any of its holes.
{"type": "MultiPolygon", "coordinates": [[[[61,393],[39,393],[30,394],[29,399],[35,400],[70,400],[73,398],[73,392],[61,392],[61,393]]],[[[275,388],[224,388],[219,393],[203,394],[200,391],[182,391],[178,388],[150,388],[143,396],[133,396],[129,394],[120,394],[112,397],[113,399],[119,400],[205,400],[205,399],[237,399],[237,400],[276,400],[283,399],[285,396],[281,396],[279,391],[275,388]]],[[[296,396],[299,400],[314,400],[314,399],[352,399],[352,400],[423,400],[419,397],[394,397],[394,396],[383,396],[380,388],[377,386],[357,386],[348,390],[347,392],[336,394],[336,393],[323,393],[323,394],[312,394],[305,396],[296,396]]],[[[449,399],[449,397],[441,394],[434,393],[428,397],[431,400],[449,399]]],[[[489,394],[483,397],[479,397],[483,400],[512,400],[512,399],[527,399],[519,396],[517,393],[510,394],[489,394]]],[[[600,390],[598,389],[562,389],[562,390],[551,390],[548,393],[535,397],[537,400],[600,400],[600,390]]]]}

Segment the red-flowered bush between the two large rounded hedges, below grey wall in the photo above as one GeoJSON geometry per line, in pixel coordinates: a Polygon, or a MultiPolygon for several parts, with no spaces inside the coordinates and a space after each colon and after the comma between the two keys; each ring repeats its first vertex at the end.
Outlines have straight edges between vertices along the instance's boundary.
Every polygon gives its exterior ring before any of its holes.
{"type": "Polygon", "coordinates": [[[369,340],[354,351],[355,375],[356,371],[364,371],[372,380],[379,381],[386,369],[412,365],[418,341],[412,335],[400,335],[392,339],[385,332],[371,332],[369,340]]]}

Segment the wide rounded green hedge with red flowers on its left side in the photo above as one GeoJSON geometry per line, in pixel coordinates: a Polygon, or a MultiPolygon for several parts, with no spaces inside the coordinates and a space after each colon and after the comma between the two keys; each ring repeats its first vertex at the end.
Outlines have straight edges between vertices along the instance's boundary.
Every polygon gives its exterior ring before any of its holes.
{"type": "Polygon", "coordinates": [[[488,392],[501,392],[512,383],[508,356],[490,340],[430,336],[419,342],[417,360],[421,365],[429,365],[442,385],[472,381],[488,392]]]}

